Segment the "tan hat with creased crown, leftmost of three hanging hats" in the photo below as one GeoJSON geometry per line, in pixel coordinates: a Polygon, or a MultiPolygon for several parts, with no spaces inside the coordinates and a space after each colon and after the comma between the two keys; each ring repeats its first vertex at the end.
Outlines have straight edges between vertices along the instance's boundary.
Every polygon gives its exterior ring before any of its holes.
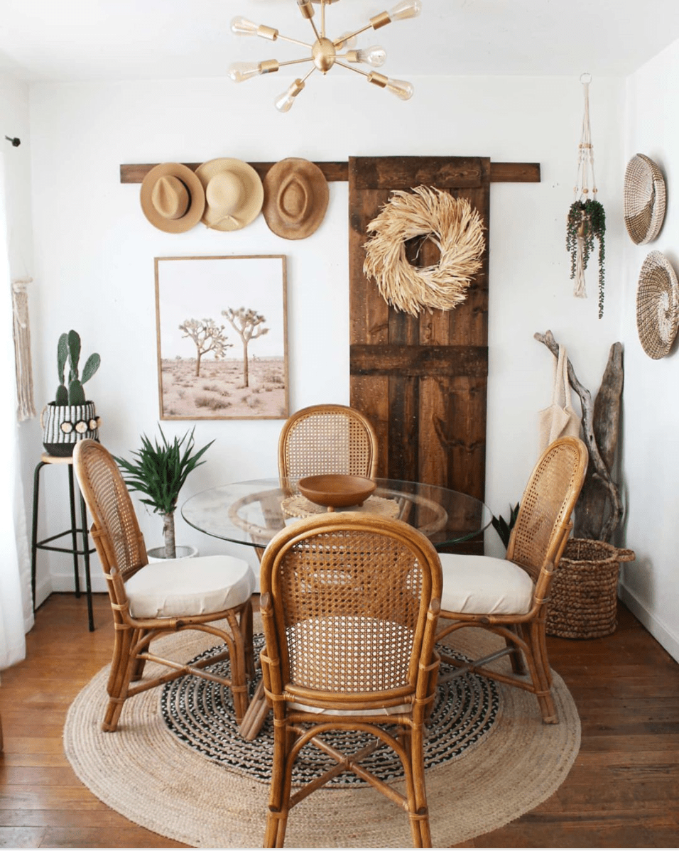
{"type": "Polygon", "coordinates": [[[161,163],[142,181],[140,201],[151,225],[166,233],[184,233],[201,220],[205,191],[188,166],[161,163]]]}

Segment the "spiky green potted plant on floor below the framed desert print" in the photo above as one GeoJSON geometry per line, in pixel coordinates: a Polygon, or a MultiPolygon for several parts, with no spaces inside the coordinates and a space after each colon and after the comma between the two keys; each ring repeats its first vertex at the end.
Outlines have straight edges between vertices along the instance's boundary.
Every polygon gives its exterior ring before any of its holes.
{"type": "Polygon", "coordinates": [[[174,543],[174,511],[177,507],[180,490],[184,487],[186,477],[205,462],[200,460],[208,448],[214,443],[211,440],[202,449],[194,452],[195,441],[193,432],[186,431],[184,437],[174,437],[172,443],[165,437],[163,429],[158,426],[162,441],[156,438],[154,443],[141,436],[141,448],[132,454],[134,460],[115,458],[123,472],[123,478],[128,488],[145,494],[141,501],[157,514],[163,517],[164,546],[157,546],[147,551],[150,558],[178,558],[195,555],[190,547],[178,547],[174,543]]]}

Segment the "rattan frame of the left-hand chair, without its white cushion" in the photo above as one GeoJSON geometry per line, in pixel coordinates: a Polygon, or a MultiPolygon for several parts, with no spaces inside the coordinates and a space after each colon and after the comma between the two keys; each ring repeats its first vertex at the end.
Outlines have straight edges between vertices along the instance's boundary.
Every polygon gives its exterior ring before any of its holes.
{"type": "Polygon", "coordinates": [[[254,676],[250,597],[240,605],[219,612],[135,618],[130,613],[125,583],[148,564],[148,557],[127,485],[112,455],[94,440],[78,442],[73,461],[81,492],[93,518],[90,534],[104,569],[115,629],[107,685],[109,701],[102,730],[113,732],[117,729],[125,700],[185,674],[231,688],[234,711],[240,722],[248,708],[248,676],[254,676]],[[228,628],[215,625],[218,620],[225,620],[228,628]],[[193,665],[151,652],[149,645],[157,637],[185,630],[206,632],[219,638],[225,644],[224,651],[193,665]],[[203,670],[205,665],[214,665],[226,658],[231,660],[231,677],[203,670]],[[142,680],[147,661],[164,665],[170,671],[142,680]],[[133,682],[136,684],[132,685],[133,682]]]}

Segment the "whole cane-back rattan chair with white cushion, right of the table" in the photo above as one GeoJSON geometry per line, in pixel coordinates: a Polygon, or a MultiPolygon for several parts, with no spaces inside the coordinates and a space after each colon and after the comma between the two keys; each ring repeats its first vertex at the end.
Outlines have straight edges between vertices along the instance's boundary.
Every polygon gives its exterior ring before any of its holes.
{"type": "Polygon", "coordinates": [[[441,555],[445,625],[436,640],[465,626],[480,626],[505,639],[505,648],[471,663],[444,654],[442,659],[532,692],[545,723],[559,720],[551,696],[546,608],[586,470],[585,443],[577,437],[556,440],[540,456],[523,492],[506,557],[441,555]],[[488,666],[505,655],[511,671],[488,666]]]}

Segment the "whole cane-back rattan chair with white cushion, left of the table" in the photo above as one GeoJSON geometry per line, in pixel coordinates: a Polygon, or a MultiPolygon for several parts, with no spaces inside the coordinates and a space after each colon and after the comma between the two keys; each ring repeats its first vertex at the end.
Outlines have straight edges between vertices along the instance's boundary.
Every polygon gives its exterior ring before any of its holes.
{"type": "Polygon", "coordinates": [[[247,678],[254,675],[252,569],[231,556],[165,559],[149,564],[128,488],[112,455],[100,443],[83,440],[76,444],[73,464],[93,518],[90,532],[104,568],[115,628],[102,730],[117,728],[125,700],[185,674],[231,688],[240,721],[248,707],[247,678]],[[220,620],[225,623],[217,624],[220,620]],[[185,630],[217,637],[224,642],[224,651],[195,665],[152,651],[151,642],[157,637],[185,630]],[[227,657],[231,659],[230,678],[205,670],[205,665],[227,657]],[[146,661],[165,665],[170,671],[144,677],[146,661]]]}

